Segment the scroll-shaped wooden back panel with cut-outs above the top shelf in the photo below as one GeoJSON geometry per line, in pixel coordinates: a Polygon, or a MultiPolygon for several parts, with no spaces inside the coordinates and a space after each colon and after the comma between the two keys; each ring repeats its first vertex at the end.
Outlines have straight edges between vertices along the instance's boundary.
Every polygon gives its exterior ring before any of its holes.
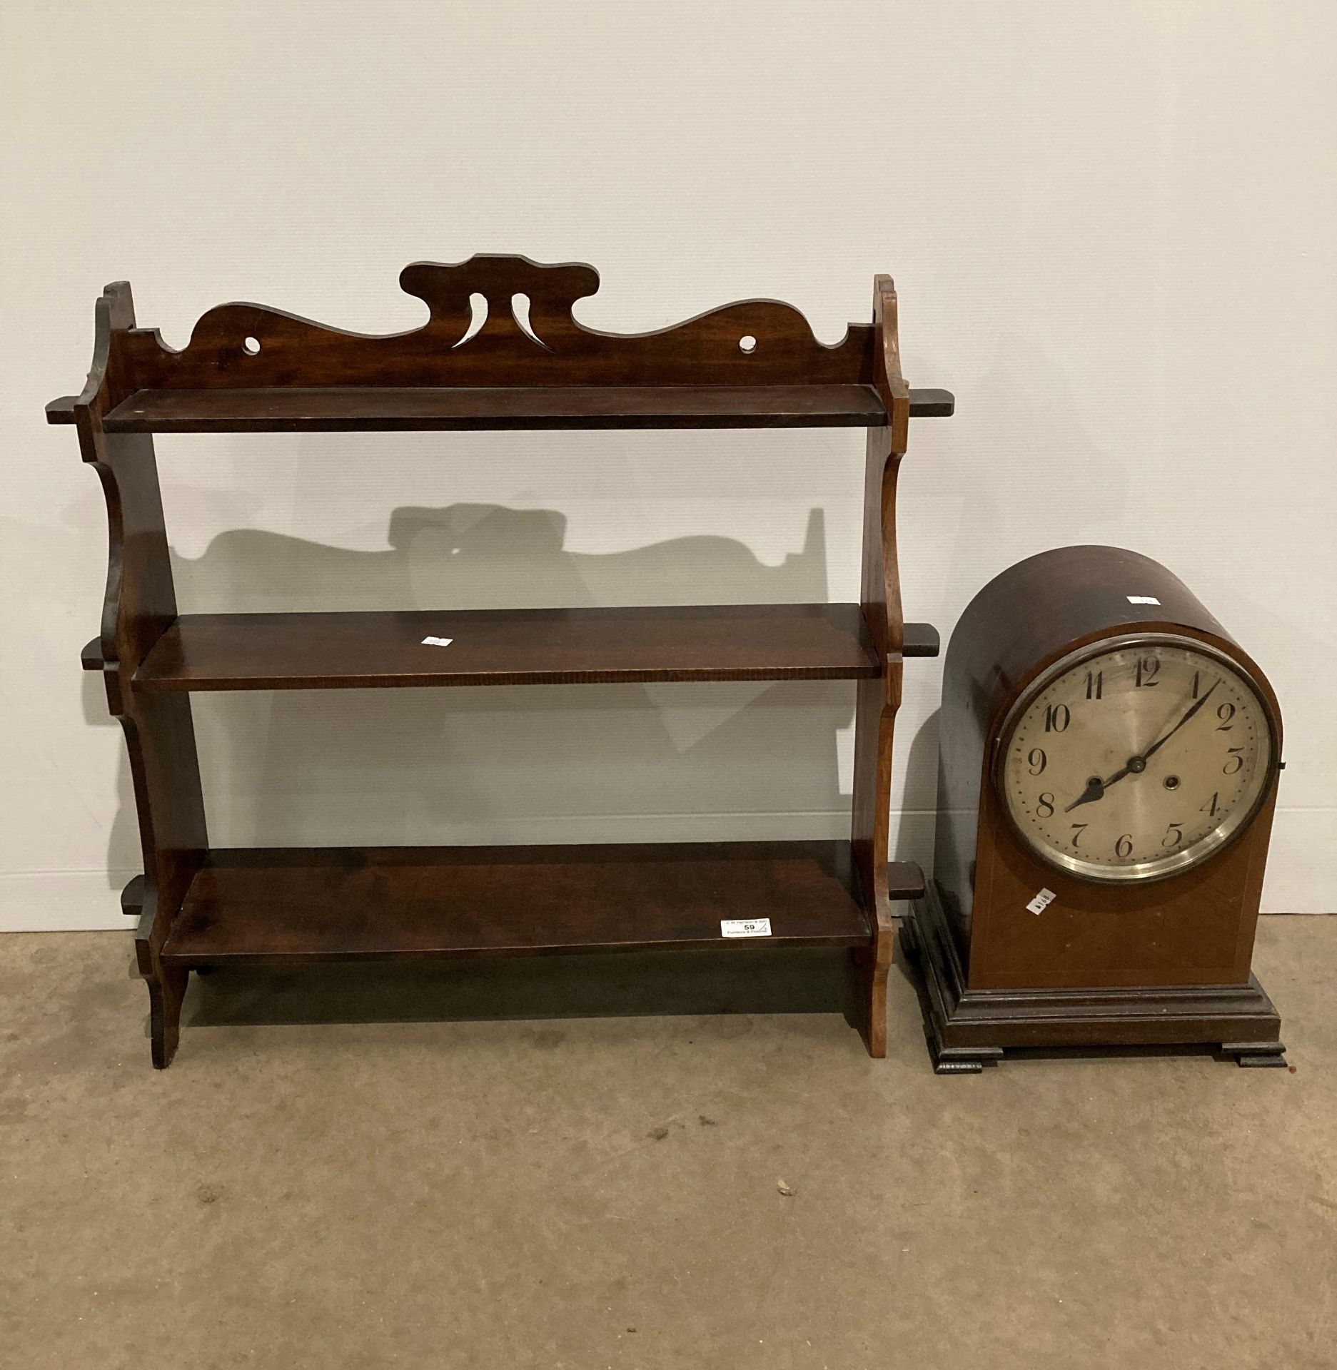
{"type": "Polygon", "coordinates": [[[347,333],[259,304],[204,314],[179,352],[156,330],[112,333],[129,389],[401,385],[826,385],[875,379],[878,329],[851,325],[836,347],[775,300],[744,300],[656,333],[600,333],[574,306],[599,289],[582,263],[521,256],[414,262],[400,285],[427,322],[382,337],[347,333]]]}

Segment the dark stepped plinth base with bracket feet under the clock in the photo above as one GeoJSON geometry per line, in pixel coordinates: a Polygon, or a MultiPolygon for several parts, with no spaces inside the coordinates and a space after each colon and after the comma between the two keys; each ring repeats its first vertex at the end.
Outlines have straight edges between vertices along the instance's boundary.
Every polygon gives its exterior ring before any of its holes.
{"type": "Polygon", "coordinates": [[[1281,1018],[1255,977],[1247,985],[1134,989],[967,989],[933,882],[901,922],[923,986],[938,1074],[975,1074],[1007,1048],[1215,1045],[1241,1066],[1284,1066],[1281,1018]]]}

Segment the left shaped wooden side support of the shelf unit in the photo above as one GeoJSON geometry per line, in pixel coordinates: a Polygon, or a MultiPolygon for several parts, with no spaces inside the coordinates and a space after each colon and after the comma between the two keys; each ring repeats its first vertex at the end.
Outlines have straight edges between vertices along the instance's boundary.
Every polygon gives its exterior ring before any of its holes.
{"type": "Polygon", "coordinates": [[[97,471],[107,501],[107,593],[96,664],[108,710],[125,733],[134,784],[144,855],[136,960],[148,982],[153,1064],[162,1069],[177,1048],[186,975],[163,966],[160,952],[208,838],[189,696],[142,695],[130,685],[177,618],[153,440],[103,427],[108,410],[134,389],[119,345],[133,327],[130,286],[114,282],[97,301],[93,367],[73,412],[79,451],[97,471]]]}

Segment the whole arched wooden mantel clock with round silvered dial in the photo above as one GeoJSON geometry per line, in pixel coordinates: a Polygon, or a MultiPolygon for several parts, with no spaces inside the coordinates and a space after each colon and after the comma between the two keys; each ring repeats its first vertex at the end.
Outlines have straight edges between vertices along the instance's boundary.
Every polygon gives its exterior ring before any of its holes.
{"type": "Polygon", "coordinates": [[[1182,581],[1112,547],[1004,571],[952,634],[940,736],[904,927],[940,1071],[1177,1043],[1285,1064],[1249,969],[1281,714],[1182,581]]]}

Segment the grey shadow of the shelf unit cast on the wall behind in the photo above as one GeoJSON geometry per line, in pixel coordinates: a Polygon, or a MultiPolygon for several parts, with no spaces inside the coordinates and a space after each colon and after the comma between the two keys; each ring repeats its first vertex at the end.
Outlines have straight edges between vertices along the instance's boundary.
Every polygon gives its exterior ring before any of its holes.
{"type": "MultiPolygon", "coordinates": [[[[827,597],[821,510],[779,566],[725,537],[608,555],[564,538],[560,512],[492,504],[399,508],[375,552],[234,530],[175,563],[178,601],[192,612],[827,597]]],[[[849,830],[838,758],[852,747],[837,751],[853,718],[848,681],[236,692],[192,704],[218,847],[849,830]]],[[[112,864],[134,845],[122,770],[112,864]]]]}

